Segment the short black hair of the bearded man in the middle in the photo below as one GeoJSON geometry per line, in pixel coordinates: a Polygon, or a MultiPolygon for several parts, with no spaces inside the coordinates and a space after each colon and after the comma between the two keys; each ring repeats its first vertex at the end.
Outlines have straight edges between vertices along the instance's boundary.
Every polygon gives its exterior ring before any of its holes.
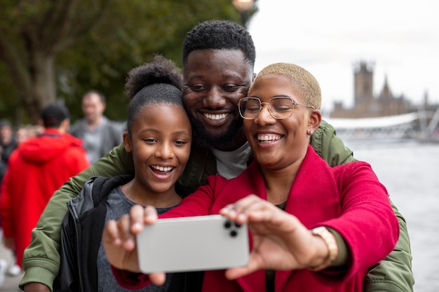
{"type": "Polygon", "coordinates": [[[200,22],[187,32],[183,42],[183,64],[194,50],[241,50],[245,60],[255,67],[255,43],[247,29],[228,20],[200,22]]]}

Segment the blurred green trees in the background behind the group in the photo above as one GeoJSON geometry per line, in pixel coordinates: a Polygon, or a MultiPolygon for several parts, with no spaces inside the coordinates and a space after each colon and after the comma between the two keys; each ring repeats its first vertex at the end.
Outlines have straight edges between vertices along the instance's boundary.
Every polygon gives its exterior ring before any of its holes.
{"type": "Polygon", "coordinates": [[[182,66],[182,42],[198,22],[239,22],[231,0],[2,0],[0,117],[36,123],[43,106],[62,100],[72,120],[81,96],[107,97],[105,114],[125,120],[130,69],[156,53],[182,66]]]}

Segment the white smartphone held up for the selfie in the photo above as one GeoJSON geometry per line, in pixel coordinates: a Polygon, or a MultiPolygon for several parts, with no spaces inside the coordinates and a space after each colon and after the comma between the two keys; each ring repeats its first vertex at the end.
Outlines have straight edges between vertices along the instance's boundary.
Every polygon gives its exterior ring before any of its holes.
{"type": "Polygon", "coordinates": [[[158,219],[137,235],[140,271],[189,272],[247,265],[247,225],[221,215],[158,219]]]}

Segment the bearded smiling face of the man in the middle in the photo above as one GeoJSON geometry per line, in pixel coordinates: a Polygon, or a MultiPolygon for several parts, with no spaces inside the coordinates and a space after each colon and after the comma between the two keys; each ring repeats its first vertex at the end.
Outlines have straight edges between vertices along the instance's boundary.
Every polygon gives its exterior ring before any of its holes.
{"type": "Polygon", "coordinates": [[[184,106],[196,142],[223,151],[245,141],[238,101],[252,81],[252,67],[241,50],[194,50],[184,64],[184,106]]]}

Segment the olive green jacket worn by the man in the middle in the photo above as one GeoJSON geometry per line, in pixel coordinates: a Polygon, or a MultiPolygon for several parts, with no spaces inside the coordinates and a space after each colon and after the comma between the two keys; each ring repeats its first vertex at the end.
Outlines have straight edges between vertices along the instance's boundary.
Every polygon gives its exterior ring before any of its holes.
{"type": "MultiPolygon", "coordinates": [[[[310,143],[316,153],[331,166],[355,161],[352,151],[344,146],[343,141],[335,136],[334,128],[325,121],[311,136],[310,143]]],[[[194,146],[180,183],[194,190],[205,183],[207,176],[216,172],[216,160],[212,153],[194,146]]],[[[39,282],[52,290],[53,280],[60,269],[60,228],[62,218],[67,213],[67,202],[79,194],[87,179],[91,176],[133,173],[133,157],[126,153],[123,145],[119,145],[91,167],[69,179],[54,193],[32,231],[31,244],[25,250],[22,261],[25,275],[20,288],[27,283],[39,282]]],[[[400,221],[400,239],[392,253],[367,275],[365,291],[413,291],[412,256],[407,227],[398,209],[395,206],[393,209],[400,221]]]]}

